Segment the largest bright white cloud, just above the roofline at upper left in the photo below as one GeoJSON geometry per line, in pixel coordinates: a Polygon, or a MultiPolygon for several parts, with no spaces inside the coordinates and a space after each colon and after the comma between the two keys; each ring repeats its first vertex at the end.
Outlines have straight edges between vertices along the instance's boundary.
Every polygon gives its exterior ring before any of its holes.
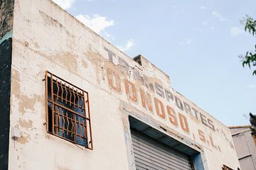
{"type": "Polygon", "coordinates": [[[114,26],[114,20],[107,20],[106,16],[100,16],[97,14],[92,17],[80,14],[75,18],[78,18],[79,21],[91,28],[95,33],[102,33],[105,28],[114,26]]]}

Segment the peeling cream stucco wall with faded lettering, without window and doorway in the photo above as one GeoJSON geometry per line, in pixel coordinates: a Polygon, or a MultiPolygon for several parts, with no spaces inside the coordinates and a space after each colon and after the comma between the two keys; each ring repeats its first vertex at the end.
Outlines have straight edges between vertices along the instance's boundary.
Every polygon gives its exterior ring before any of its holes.
{"type": "Polygon", "coordinates": [[[49,0],[16,0],[14,16],[10,116],[22,137],[10,139],[9,169],[133,169],[128,115],[198,149],[206,169],[239,167],[228,128],[144,57],[134,62],[49,0]],[[92,151],[46,132],[46,70],[89,92],[92,151]]]}

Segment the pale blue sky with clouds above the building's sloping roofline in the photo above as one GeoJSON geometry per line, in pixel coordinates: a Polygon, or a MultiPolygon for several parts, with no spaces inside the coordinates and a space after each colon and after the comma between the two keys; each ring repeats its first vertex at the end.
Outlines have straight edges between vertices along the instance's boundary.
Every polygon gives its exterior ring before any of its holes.
{"type": "Polygon", "coordinates": [[[146,57],[225,125],[256,114],[256,77],[238,58],[256,44],[240,23],[256,18],[255,0],[54,1],[130,57],[146,57]]]}

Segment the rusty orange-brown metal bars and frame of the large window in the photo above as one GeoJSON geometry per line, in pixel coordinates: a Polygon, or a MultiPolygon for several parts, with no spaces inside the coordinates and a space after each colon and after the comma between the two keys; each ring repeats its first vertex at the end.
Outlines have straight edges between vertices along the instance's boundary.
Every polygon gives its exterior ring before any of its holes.
{"type": "Polygon", "coordinates": [[[73,144],[76,145],[80,145],[83,146],[87,149],[93,149],[93,145],[92,145],[92,128],[91,128],[91,119],[90,119],[90,100],[89,100],[89,94],[87,91],[84,91],[82,89],[80,89],[78,86],[75,86],[73,84],[70,84],[68,81],[65,81],[64,79],[61,79],[60,77],[56,76],[55,74],[52,74],[50,72],[48,72],[46,70],[46,74],[45,74],[45,93],[46,93],[46,131],[48,133],[50,133],[51,135],[54,135],[56,137],[60,137],[63,140],[67,140],[68,142],[72,142],[73,144]],[[50,78],[50,86],[49,86],[49,79],[50,78]],[[55,82],[54,82],[55,81],[55,82]],[[58,92],[56,94],[54,94],[54,84],[58,87],[58,92]],[[59,86],[61,88],[61,96],[59,96],[59,86]],[[65,88],[65,98],[63,98],[63,87],[65,88]],[[50,88],[50,97],[49,97],[49,88],[50,88]],[[68,89],[68,91],[67,91],[68,89]],[[79,91],[79,92],[78,92],[79,91]],[[67,96],[68,93],[70,93],[70,100],[67,100],[67,96]],[[72,94],[74,95],[74,97],[72,98],[72,94]],[[76,105],[75,101],[75,96],[78,96],[78,98],[81,97],[82,100],[82,105],[80,106],[80,99],[78,99],[78,104],[76,105]],[[57,99],[56,99],[57,98],[57,99]],[[59,98],[61,98],[61,101],[65,101],[65,104],[62,102],[59,102],[59,98]],[[71,101],[72,98],[72,101],[71,101]],[[67,103],[69,103],[70,106],[73,106],[73,108],[69,108],[67,107],[67,103]],[[48,107],[51,106],[51,113],[49,113],[48,111],[48,107]],[[55,108],[58,107],[56,110],[55,108]],[[66,113],[64,113],[62,111],[62,113],[59,113],[59,108],[61,108],[62,110],[67,111],[66,113]],[[84,115],[80,114],[78,111],[75,110],[81,110],[84,115]],[[68,113],[72,114],[72,116],[69,116],[68,113]],[[49,118],[51,114],[51,118],[49,118]],[[56,116],[57,120],[56,120],[56,116]],[[72,117],[72,118],[71,118],[72,117]],[[59,118],[59,119],[58,119],[59,118]],[[56,120],[56,121],[55,121],[56,120]],[[66,124],[65,124],[65,120],[68,120],[68,127],[65,128],[66,124]],[[82,120],[82,123],[80,122],[80,120],[82,120]],[[59,121],[61,121],[61,123],[63,125],[59,125],[59,121]],[[69,130],[69,123],[72,123],[72,128],[71,130],[69,130]],[[49,127],[51,123],[51,129],[49,127]],[[83,125],[83,126],[82,126],[83,125]],[[79,128],[78,128],[79,126],[79,128]],[[57,128],[57,130],[55,130],[55,128],[57,128]],[[79,131],[78,131],[79,129],[79,131]],[[82,130],[83,129],[83,130],[82,130]],[[61,130],[62,132],[62,136],[59,135],[59,130],[61,130]],[[82,133],[83,131],[83,133],[82,133]],[[64,137],[66,135],[64,135],[65,133],[70,132],[71,135],[73,135],[74,140],[70,140],[69,137],[64,137]],[[78,135],[78,132],[80,133],[78,135]],[[85,145],[82,145],[79,142],[76,142],[77,137],[80,137],[79,139],[85,140],[85,145]]]}

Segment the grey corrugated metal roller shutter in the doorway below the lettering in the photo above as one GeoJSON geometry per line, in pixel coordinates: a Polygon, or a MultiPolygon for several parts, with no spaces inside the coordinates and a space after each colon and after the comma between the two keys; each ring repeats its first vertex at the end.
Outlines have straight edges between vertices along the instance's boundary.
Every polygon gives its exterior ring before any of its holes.
{"type": "Polygon", "coordinates": [[[192,169],[188,155],[139,132],[132,131],[132,147],[137,170],[192,169]]]}

